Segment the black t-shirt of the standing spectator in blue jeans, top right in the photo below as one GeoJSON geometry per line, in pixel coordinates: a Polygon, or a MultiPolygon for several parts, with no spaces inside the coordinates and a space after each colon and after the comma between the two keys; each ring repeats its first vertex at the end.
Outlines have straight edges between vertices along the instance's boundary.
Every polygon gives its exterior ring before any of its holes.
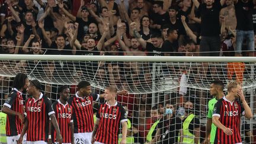
{"type": "Polygon", "coordinates": [[[236,14],[236,30],[254,30],[252,24],[252,9],[254,4],[252,1],[247,3],[238,0],[238,3],[235,4],[235,14],[236,14]]]}

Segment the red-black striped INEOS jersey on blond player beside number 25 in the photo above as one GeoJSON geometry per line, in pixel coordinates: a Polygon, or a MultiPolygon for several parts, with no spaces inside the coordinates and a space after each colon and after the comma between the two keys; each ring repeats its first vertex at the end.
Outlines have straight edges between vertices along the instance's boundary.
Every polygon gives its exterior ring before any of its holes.
{"type": "Polygon", "coordinates": [[[120,123],[127,121],[124,107],[117,102],[114,106],[107,103],[100,104],[96,117],[100,120],[100,123],[95,141],[106,144],[117,143],[120,123]]]}

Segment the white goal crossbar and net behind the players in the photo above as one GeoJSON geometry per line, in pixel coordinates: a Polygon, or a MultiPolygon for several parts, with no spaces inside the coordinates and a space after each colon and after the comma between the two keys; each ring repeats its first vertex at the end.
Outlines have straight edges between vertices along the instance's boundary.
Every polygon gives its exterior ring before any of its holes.
{"type": "MultiPolygon", "coordinates": [[[[38,79],[44,94],[53,101],[57,100],[59,85],[70,85],[74,94],[76,84],[85,80],[91,83],[94,92],[103,93],[109,85],[129,91],[129,95],[118,95],[117,100],[127,106],[132,126],[138,129],[140,139],[136,140],[146,139],[152,107],[158,106],[164,115],[162,105],[171,104],[176,108],[174,113],[182,116],[184,101],[194,104],[203,140],[213,80],[221,80],[225,91],[229,81],[242,82],[247,102],[255,113],[255,62],[256,57],[0,55],[0,106],[11,88],[12,78],[20,72],[38,79]]],[[[245,121],[253,132],[255,120],[245,121]]]]}

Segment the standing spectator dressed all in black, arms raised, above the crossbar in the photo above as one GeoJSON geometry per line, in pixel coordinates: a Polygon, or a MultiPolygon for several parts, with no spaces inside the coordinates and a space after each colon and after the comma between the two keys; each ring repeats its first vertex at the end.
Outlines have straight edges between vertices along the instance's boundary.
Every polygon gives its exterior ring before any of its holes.
{"type": "Polygon", "coordinates": [[[199,4],[197,0],[193,0],[193,2],[196,8],[199,9],[201,17],[200,52],[207,52],[201,53],[201,56],[219,56],[219,12],[225,0],[206,0],[204,4],[199,4]]]}

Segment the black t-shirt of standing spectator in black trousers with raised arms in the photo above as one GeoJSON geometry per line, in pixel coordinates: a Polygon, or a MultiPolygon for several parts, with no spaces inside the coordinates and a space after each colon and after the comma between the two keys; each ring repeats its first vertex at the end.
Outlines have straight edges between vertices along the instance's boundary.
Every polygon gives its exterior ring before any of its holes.
{"type": "Polygon", "coordinates": [[[219,36],[219,12],[221,8],[222,6],[219,1],[216,1],[212,8],[206,8],[206,4],[199,5],[198,9],[201,16],[201,36],[219,36]]]}

